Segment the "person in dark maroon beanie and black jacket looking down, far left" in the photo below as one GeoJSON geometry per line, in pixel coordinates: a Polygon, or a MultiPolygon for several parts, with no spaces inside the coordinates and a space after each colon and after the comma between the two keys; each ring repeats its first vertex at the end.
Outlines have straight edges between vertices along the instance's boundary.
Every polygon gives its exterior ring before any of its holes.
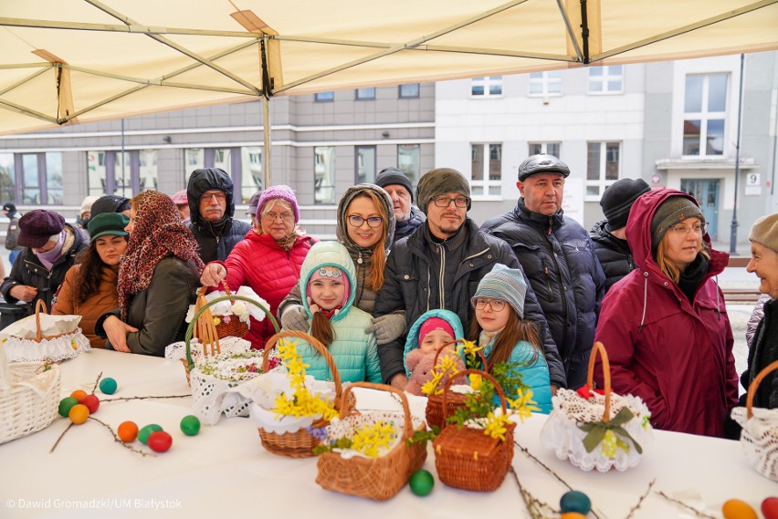
{"type": "Polygon", "coordinates": [[[87,242],[78,229],[65,223],[62,215],[36,209],[19,218],[17,243],[26,249],[0,285],[0,293],[8,303],[33,303],[32,309],[42,299],[50,309],[76,254],[87,242]]]}

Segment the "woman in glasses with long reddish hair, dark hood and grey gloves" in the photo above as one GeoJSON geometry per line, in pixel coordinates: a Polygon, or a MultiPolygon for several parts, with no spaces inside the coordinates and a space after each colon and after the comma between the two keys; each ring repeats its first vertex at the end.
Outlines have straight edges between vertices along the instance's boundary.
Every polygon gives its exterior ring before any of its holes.
{"type": "MultiPolygon", "coordinates": [[[[354,306],[368,314],[373,312],[378,290],[384,285],[384,266],[394,236],[392,199],[374,184],[357,184],[349,188],[338,203],[338,240],[352,256],[356,266],[354,306]]],[[[279,307],[284,329],[307,331],[305,308],[300,289],[289,293],[279,307]]],[[[400,337],[405,331],[405,312],[373,317],[365,333],[375,332],[378,344],[400,337]]]]}

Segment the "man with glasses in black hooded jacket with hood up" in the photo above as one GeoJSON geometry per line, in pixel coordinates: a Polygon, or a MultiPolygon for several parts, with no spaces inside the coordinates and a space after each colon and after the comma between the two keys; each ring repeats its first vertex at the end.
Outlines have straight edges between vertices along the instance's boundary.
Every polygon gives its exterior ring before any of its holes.
{"type": "Polygon", "coordinates": [[[200,258],[207,264],[225,261],[233,247],[246,237],[251,225],[233,219],[232,179],[224,170],[207,168],[192,171],[186,187],[189,230],[200,244],[200,258]]]}

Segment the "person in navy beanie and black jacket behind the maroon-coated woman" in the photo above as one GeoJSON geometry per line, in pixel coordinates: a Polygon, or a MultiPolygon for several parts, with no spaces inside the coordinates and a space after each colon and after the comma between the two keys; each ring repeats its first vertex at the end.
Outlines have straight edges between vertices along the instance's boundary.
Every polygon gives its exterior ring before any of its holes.
{"type": "Polygon", "coordinates": [[[605,220],[594,223],[589,235],[605,272],[605,293],[636,267],[626,242],[626,219],[637,197],[649,191],[651,188],[643,179],[621,179],[608,187],[600,199],[605,220]]]}

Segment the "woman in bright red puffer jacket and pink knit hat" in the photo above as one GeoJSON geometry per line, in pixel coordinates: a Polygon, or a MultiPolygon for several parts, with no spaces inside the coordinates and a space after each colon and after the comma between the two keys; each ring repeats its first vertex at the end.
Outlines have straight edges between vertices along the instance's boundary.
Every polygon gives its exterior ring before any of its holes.
{"type": "MultiPolygon", "coordinates": [[[[201,281],[217,286],[226,281],[236,292],[247,285],[268,302],[273,315],[281,300],[300,279],[302,261],[313,240],[297,226],[300,210],[294,192],[285,185],[271,186],[259,196],[257,218],[246,239],[236,244],[224,263],[205,265],[201,281]]],[[[275,333],[270,319],[251,317],[246,339],[252,348],[265,348],[275,333]]]]}

